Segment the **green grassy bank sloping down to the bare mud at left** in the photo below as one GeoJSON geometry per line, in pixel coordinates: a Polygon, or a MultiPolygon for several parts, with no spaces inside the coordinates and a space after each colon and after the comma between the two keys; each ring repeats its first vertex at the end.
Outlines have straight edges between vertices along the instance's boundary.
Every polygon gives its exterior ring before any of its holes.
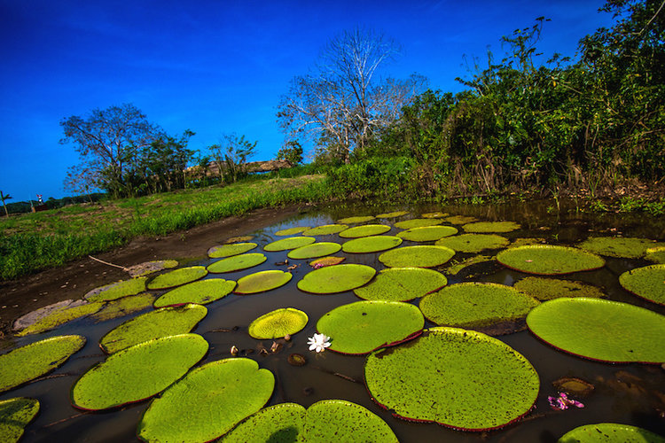
{"type": "Polygon", "coordinates": [[[260,207],[321,201],[330,192],[325,176],[304,175],[0,218],[0,279],[61,266],[134,237],[163,236],[260,207]]]}

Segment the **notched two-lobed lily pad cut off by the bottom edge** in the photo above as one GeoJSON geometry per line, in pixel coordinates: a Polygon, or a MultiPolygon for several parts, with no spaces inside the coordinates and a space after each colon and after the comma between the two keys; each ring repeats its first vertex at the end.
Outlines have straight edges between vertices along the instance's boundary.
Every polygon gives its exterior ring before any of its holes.
{"type": "Polygon", "coordinates": [[[220,441],[397,443],[397,438],[386,422],[368,409],[346,400],[321,400],[308,409],[295,403],[264,408],[220,441]]]}

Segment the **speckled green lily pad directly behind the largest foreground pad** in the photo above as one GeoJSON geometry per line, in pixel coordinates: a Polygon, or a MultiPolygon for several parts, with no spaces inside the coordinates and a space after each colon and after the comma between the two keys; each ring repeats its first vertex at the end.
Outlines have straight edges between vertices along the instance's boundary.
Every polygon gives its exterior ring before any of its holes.
{"type": "Polygon", "coordinates": [[[536,299],[504,284],[458,283],[426,295],[419,306],[427,320],[440,326],[498,335],[526,329],[524,318],[537,305],[536,299]]]}

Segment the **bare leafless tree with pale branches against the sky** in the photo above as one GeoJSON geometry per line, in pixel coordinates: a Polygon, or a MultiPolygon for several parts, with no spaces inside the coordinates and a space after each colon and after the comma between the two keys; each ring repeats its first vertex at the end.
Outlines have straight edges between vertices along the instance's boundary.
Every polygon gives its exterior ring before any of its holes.
{"type": "Polygon", "coordinates": [[[324,144],[348,162],[350,152],[364,149],[376,129],[396,120],[424,84],[418,75],[379,78],[379,66],[398,52],[392,39],[361,29],[333,39],[316,73],[294,77],[281,97],[278,120],[287,138],[324,144]]]}

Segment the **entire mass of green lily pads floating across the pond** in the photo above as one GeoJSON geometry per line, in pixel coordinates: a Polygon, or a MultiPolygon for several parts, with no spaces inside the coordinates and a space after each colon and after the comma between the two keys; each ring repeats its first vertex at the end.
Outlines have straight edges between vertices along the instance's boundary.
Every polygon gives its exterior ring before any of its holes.
{"type": "MultiPolygon", "coordinates": [[[[406,420],[485,431],[528,415],[540,392],[536,369],[492,337],[518,330],[528,328],[544,343],[591,360],[665,361],[665,346],[660,346],[665,316],[604,299],[596,286],[552,278],[603,268],[603,256],[645,258],[656,264],[627,271],[619,281],[638,297],[665,305],[664,246],[622,237],[544,245],[539,239],[499,235],[518,229],[512,221],[444,213],[409,219],[399,211],[281,229],[275,235],[283,238],[262,245],[262,252],[254,237],[237,237],[211,247],[207,255],[213,261],[207,266],[176,268],[176,262],[164,261],[161,267],[144,267],[175,269],[106,284],[82,300],[43,309],[19,319],[16,335],[153,307],[99,340],[106,359],[82,374],[71,391],[74,407],[86,411],[150,400],[137,424],[137,436],[144,441],[396,441],[379,416],[346,400],[264,408],[275,377],[257,361],[235,356],[237,349],[231,358],[197,367],[208,343],[192,330],[206,317],[206,305],[230,294],[250,296],[282,287],[298,265],[311,268],[295,284],[301,292],[334,296],[353,291],[359,299],[316,319],[318,333],[309,339],[309,350],[364,355],[364,383],[372,400],[406,420]],[[397,218],[402,220],[392,223],[397,218]],[[396,235],[389,234],[393,230],[396,235]],[[469,256],[481,252],[489,255],[469,256]],[[286,270],[251,272],[268,260],[265,253],[286,253],[279,263],[286,270]],[[384,268],[343,263],[368,253],[378,254],[384,268]],[[458,260],[451,264],[453,258],[458,260]],[[513,286],[449,284],[447,276],[490,262],[528,276],[513,286]],[[246,269],[237,280],[219,276],[246,269]],[[427,323],[433,326],[426,328],[427,323]]],[[[308,323],[306,312],[282,307],[255,318],[247,333],[257,340],[290,338],[308,323]]],[[[0,355],[0,392],[58,368],[85,343],[82,336],[63,335],[0,355]]],[[[565,392],[556,399],[551,402],[575,404],[565,392]]],[[[0,439],[19,439],[38,409],[35,399],[0,402],[0,439]]],[[[587,428],[568,432],[560,441],[591,441],[581,437],[587,428]]],[[[591,429],[635,432],[613,424],[591,429]]]]}

